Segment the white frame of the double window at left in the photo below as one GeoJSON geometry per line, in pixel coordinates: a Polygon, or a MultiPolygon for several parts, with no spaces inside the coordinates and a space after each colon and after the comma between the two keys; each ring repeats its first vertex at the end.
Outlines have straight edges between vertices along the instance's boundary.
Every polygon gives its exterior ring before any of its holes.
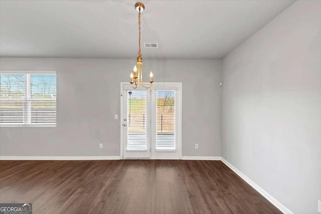
{"type": "MultiPolygon", "coordinates": [[[[21,101],[25,101],[25,102],[30,102],[30,101],[38,101],[41,99],[37,99],[37,98],[31,98],[31,94],[30,94],[30,76],[32,74],[55,74],[56,75],[56,98],[46,98],[43,100],[50,100],[50,101],[56,101],[56,123],[39,123],[39,124],[35,124],[35,123],[31,123],[31,113],[28,113],[27,116],[24,116],[23,121],[24,123],[20,123],[20,124],[13,124],[13,123],[5,123],[5,124],[0,124],[0,127],[56,127],[57,126],[57,72],[56,71],[19,71],[19,70],[0,70],[0,74],[23,74],[25,75],[25,94],[24,94],[24,98],[18,98],[15,100],[21,100],[21,101]],[[26,119],[27,118],[27,119],[26,119]],[[27,121],[27,123],[25,123],[27,121]]],[[[0,100],[4,100],[1,99],[0,100]]],[[[25,104],[24,104],[24,108],[25,104]]],[[[27,105],[28,112],[31,111],[30,109],[30,105],[27,105]]],[[[23,112],[25,112],[25,110],[23,110],[23,112]]]]}

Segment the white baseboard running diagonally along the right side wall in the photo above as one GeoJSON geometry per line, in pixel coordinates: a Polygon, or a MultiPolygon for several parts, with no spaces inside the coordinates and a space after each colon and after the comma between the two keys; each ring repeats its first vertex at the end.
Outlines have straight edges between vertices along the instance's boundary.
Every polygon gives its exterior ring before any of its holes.
{"type": "Polygon", "coordinates": [[[269,193],[267,193],[264,189],[262,189],[259,185],[257,185],[253,180],[248,178],[245,174],[243,174],[240,170],[235,168],[231,163],[225,160],[222,157],[222,162],[225,163],[230,169],[232,169],[238,176],[240,176],[243,180],[245,180],[248,184],[250,184],[256,191],[258,191],[261,195],[263,195],[268,201],[270,201],[274,206],[276,206],[280,211],[284,214],[294,214],[291,210],[289,210],[286,206],[272,197],[269,193]]]}

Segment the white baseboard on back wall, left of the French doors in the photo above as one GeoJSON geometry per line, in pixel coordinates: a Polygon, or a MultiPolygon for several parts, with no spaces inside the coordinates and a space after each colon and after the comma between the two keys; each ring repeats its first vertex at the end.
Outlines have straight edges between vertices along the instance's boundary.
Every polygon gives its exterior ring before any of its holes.
{"type": "Polygon", "coordinates": [[[0,156],[0,160],[119,160],[119,156],[0,156]]]}

